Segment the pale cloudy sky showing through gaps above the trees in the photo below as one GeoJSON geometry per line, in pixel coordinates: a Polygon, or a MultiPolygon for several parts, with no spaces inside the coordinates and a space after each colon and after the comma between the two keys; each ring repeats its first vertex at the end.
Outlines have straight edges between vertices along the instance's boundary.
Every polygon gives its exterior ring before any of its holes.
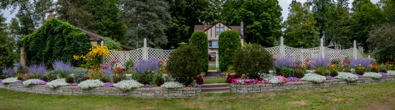
{"type": "MultiPolygon", "coordinates": [[[[287,19],[287,17],[288,17],[288,13],[289,13],[289,10],[288,10],[288,7],[289,7],[289,4],[291,3],[291,1],[292,0],[278,0],[278,2],[279,2],[279,5],[281,6],[281,8],[282,8],[282,11],[281,11],[281,13],[282,13],[282,17],[283,17],[283,19],[282,19],[282,21],[285,21],[286,19],[287,19]]],[[[304,2],[306,2],[307,0],[297,0],[297,1],[299,1],[299,2],[302,2],[302,3],[304,3],[304,2]]],[[[351,3],[353,2],[354,0],[349,0],[349,2],[350,2],[350,4],[349,4],[349,7],[351,8],[351,3]]],[[[377,2],[379,2],[380,0],[370,0],[372,3],[374,3],[374,4],[376,4],[377,2]]],[[[10,10],[11,9],[8,9],[8,10],[0,10],[1,11],[1,13],[3,13],[4,15],[4,17],[6,17],[7,18],[7,23],[9,23],[9,21],[11,21],[11,18],[12,17],[15,17],[15,13],[13,13],[13,14],[11,14],[11,12],[10,12],[10,10]]]]}

